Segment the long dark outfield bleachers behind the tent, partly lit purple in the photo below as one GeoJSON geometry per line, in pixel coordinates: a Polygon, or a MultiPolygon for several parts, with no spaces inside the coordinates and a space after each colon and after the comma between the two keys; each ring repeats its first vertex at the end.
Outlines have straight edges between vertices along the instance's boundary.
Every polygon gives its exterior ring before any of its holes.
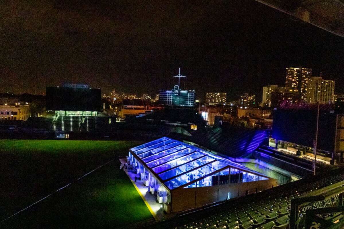
{"type": "MultiPolygon", "coordinates": [[[[153,117],[153,115],[154,112],[151,113],[151,116],[147,116],[153,117]]],[[[157,117],[160,117],[160,115],[157,117]]],[[[1,136],[7,138],[40,139],[68,137],[69,139],[139,139],[150,141],[161,137],[169,137],[189,142],[196,147],[233,161],[240,158],[251,158],[272,164],[302,178],[312,174],[314,157],[311,154],[311,156],[306,154],[298,155],[296,152],[288,150],[290,148],[283,149],[281,146],[276,148],[275,145],[269,142],[269,135],[266,131],[235,125],[191,129],[191,125],[197,124],[196,122],[188,124],[183,123],[182,119],[179,119],[179,121],[177,119],[149,119],[140,117],[125,122],[116,122],[115,116],[99,115],[57,115],[52,118],[30,117],[25,122],[16,123],[12,126],[1,126],[0,133],[1,136]]],[[[201,121],[203,122],[203,120],[201,121]]],[[[197,126],[200,125],[203,124],[197,124],[197,126]]],[[[326,157],[326,155],[319,154],[317,157],[317,170],[323,171],[331,168],[329,160],[330,158],[326,157]]]]}

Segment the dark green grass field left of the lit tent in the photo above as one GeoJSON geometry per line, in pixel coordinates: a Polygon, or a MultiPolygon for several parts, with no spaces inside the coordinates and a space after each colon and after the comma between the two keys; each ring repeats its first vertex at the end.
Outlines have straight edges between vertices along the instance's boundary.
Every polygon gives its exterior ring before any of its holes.
{"type": "Polygon", "coordinates": [[[151,218],[148,208],[119,170],[118,156],[135,141],[0,140],[0,217],[29,206],[99,165],[101,169],[46,198],[0,228],[116,227],[151,218]]]}

